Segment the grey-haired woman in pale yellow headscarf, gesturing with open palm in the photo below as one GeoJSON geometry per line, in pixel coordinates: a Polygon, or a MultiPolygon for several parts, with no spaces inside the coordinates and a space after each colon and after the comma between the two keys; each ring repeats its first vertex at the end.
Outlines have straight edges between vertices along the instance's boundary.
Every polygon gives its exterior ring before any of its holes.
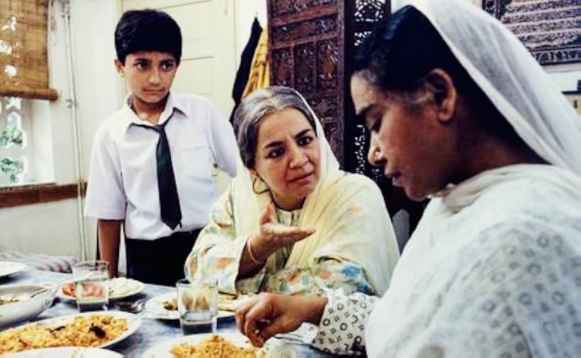
{"type": "Polygon", "coordinates": [[[272,86],[235,113],[238,175],[186,260],[220,291],[381,294],[399,253],[373,181],[339,170],[298,92],[272,86]]]}

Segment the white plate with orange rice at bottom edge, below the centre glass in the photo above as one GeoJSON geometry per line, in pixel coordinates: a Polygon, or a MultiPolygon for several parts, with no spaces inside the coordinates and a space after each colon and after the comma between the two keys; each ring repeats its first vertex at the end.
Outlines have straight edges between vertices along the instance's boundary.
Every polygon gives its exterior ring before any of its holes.
{"type": "Polygon", "coordinates": [[[266,358],[264,349],[252,347],[237,332],[188,335],[162,342],[147,350],[143,358],[266,358]]]}

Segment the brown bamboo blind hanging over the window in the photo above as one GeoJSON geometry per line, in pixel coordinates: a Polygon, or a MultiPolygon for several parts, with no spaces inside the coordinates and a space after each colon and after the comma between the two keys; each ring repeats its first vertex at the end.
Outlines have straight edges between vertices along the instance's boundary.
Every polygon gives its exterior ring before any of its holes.
{"type": "Polygon", "coordinates": [[[57,99],[48,84],[48,0],[0,0],[0,96],[57,99]]]}

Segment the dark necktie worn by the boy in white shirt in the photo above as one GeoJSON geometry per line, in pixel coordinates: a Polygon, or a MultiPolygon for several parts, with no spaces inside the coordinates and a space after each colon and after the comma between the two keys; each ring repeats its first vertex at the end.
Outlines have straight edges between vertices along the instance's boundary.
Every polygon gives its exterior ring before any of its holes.
{"type": "Polygon", "coordinates": [[[140,127],[150,128],[159,134],[157,150],[157,189],[159,191],[159,207],[161,208],[162,221],[174,230],[179,224],[181,226],[181,209],[179,208],[178,189],[176,187],[176,177],[174,177],[174,167],[171,165],[171,154],[169,152],[169,143],[165,134],[165,125],[139,125],[140,127]]]}

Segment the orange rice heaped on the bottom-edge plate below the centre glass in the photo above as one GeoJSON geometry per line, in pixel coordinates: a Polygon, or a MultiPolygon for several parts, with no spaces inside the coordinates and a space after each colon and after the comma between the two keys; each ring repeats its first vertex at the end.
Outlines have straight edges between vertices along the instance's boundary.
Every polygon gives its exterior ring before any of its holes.
{"type": "Polygon", "coordinates": [[[174,358],[257,358],[264,357],[261,350],[254,347],[238,347],[219,335],[211,335],[197,345],[181,342],[171,347],[174,358]]]}

